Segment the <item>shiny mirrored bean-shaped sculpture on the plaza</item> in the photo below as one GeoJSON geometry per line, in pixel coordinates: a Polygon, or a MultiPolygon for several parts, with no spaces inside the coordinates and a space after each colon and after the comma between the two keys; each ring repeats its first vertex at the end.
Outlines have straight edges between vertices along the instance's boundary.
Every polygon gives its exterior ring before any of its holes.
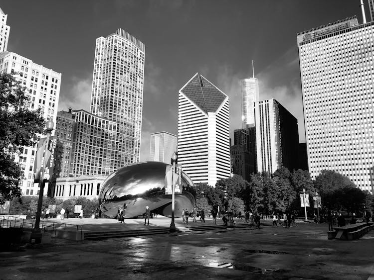
{"type": "MultiPolygon", "coordinates": [[[[165,194],[165,170],[168,164],[143,162],[125,166],[103,183],[99,203],[101,211],[116,217],[118,208],[126,204],[126,218],[142,215],[148,205],[152,213],[172,216],[172,195],[165,194]]],[[[182,171],[182,193],[175,194],[175,217],[181,217],[183,209],[194,207],[196,188],[182,171]]]]}

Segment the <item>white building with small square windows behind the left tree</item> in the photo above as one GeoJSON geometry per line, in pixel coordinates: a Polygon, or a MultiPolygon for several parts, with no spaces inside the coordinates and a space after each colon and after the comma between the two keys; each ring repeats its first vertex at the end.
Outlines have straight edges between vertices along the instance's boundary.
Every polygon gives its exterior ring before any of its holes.
{"type": "MultiPolygon", "coordinates": [[[[15,78],[21,82],[22,87],[26,87],[26,95],[30,98],[29,109],[36,110],[40,108],[45,120],[52,117],[53,122],[56,123],[61,73],[8,51],[0,53],[0,71],[17,73],[15,78]]],[[[53,134],[54,130],[52,131],[53,134]]],[[[37,195],[39,192],[38,184],[33,183],[36,146],[24,147],[23,153],[20,155],[21,167],[26,178],[20,186],[24,195],[37,195]]],[[[44,188],[44,191],[47,191],[47,187],[44,188]]]]}

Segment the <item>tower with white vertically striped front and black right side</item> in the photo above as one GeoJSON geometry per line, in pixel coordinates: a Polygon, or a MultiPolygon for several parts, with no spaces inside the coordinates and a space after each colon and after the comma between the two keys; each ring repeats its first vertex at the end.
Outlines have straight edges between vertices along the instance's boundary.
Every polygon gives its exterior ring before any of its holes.
{"type": "Polygon", "coordinates": [[[257,171],[299,165],[297,119],[274,98],[255,102],[257,171]]]}

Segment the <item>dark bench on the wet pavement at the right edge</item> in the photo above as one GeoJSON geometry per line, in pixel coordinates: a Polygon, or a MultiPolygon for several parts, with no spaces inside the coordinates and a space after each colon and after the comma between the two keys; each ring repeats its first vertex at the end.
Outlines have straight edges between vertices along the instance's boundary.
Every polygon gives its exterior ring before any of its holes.
{"type": "Polygon", "coordinates": [[[365,233],[374,229],[374,222],[356,223],[334,228],[328,232],[329,239],[354,240],[362,237],[365,233]]]}

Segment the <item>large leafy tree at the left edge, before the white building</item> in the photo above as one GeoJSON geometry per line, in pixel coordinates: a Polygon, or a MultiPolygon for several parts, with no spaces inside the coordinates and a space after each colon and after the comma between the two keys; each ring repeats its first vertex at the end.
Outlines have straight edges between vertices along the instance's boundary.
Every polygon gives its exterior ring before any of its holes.
{"type": "Polygon", "coordinates": [[[29,97],[21,83],[6,73],[0,74],[0,203],[19,197],[23,171],[15,156],[22,146],[33,146],[42,133],[44,119],[40,109],[30,111],[29,97]]]}

